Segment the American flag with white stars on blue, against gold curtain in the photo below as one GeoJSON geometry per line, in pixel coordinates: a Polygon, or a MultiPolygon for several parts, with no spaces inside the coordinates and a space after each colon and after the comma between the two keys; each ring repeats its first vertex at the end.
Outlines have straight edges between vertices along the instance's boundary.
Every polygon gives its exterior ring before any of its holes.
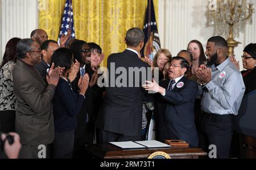
{"type": "Polygon", "coordinates": [[[71,30],[71,37],[75,38],[75,28],[73,19],[72,0],[67,0],[65,3],[64,14],[61,21],[60,35],[67,35],[68,29],[71,30]]]}

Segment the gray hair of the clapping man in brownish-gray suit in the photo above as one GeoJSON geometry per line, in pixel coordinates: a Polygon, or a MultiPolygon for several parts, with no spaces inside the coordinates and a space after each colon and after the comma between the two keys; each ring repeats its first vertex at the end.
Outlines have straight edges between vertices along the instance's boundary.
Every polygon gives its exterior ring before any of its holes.
{"type": "Polygon", "coordinates": [[[16,53],[18,55],[18,59],[24,59],[26,57],[27,52],[31,51],[31,44],[34,40],[30,38],[24,38],[20,40],[16,46],[16,53]]]}

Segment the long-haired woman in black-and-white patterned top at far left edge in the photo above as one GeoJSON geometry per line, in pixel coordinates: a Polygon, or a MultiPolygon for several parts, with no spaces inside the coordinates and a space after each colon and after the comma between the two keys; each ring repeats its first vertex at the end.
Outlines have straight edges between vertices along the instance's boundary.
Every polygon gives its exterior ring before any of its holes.
{"type": "Polygon", "coordinates": [[[13,68],[17,55],[16,45],[20,38],[12,38],[7,42],[3,61],[0,66],[0,130],[15,131],[15,110],[17,101],[13,92],[13,68]]]}

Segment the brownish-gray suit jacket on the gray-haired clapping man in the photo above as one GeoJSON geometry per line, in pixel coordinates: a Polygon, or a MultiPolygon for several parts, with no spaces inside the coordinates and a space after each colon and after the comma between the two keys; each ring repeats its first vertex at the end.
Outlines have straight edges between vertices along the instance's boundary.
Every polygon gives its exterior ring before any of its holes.
{"type": "Polygon", "coordinates": [[[52,98],[54,85],[46,85],[36,70],[18,60],[13,71],[13,90],[18,101],[15,129],[28,146],[53,142],[52,98]]]}

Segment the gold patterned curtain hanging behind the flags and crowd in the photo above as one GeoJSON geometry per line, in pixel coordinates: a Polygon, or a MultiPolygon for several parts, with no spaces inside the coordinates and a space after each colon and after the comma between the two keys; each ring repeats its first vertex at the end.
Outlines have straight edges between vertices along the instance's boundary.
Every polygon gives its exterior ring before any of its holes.
{"type": "MultiPolygon", "coordinates": [[[[46,30],[49,39],[58,38],[64,4],[65,0],[48,0],[46,9],[39,11],[39,28],[46,30]]],[[[143,27],[147,0],[73,0],[72,7],[76,38],[99,44],[105,53],[102,65],[106,66],[110,53],[126,48],[126,31],[143,27]]],[[[158,20],[158,0],[154,7],[158,20]]]]}

